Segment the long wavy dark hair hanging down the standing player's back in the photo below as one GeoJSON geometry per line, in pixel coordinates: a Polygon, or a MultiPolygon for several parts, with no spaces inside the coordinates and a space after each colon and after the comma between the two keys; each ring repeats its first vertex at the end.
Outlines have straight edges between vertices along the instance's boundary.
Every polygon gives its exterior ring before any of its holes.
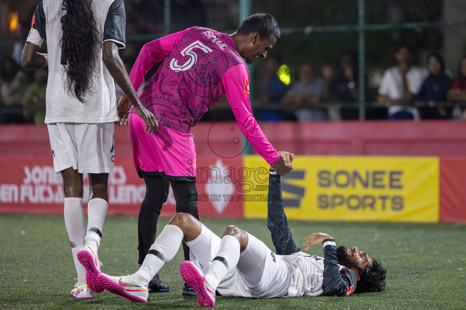
{"type": "Polygon", "coordinates": [[[96,20],[92,0],[67,0],[66,15],[62,17],[62,65],[65,65],[68,93],[84,102],[96,75],[99,54],[96,20]]]}

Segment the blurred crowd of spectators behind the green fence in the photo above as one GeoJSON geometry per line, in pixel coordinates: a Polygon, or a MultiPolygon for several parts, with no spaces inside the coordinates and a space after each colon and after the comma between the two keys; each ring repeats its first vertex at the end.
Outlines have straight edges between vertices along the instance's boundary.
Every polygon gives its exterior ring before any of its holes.
{"type": "MultiPolygon", "coordinates": [[[[20,25],[18,37],[25,38],[28,29],[29,25],[20,25]]],[[[17,40],[11,57],[2,59],[0,123],[44,123],[48,72],[22,68],[24,44],[25,40],[17,40]]],[[[127,46],[123,60],[128,72],[138,50],[137,44],[127,46]]],[[[368,94],[365,85],[369,103],[366,118],[466,119],[462,107],[466,102],[466,55],[459,59],[458,72],[453,76],[445,70],[439,53],[429,53],[424,67],[413,65],[418,62],[415,54],[408,43],[399,43],[394,48],[396,66],[384,71],[377,94],[368,94]]],[[[308,122],[359,118],[359,70],[354,52],[341,52],[335,65],[323,63],[317,67],[307,61],[295,71],[285,66],[288,79],[282,78],[283,66],[281,57],[268,55],[257,70],[254,106],[258,119],[308,122]],[[290,71],[297,76],[291,83],[290,71]]],[[[148,75],[157,68],[154,66],[148,75]]],[[[119,99],[121,89],[116,88],[119,99]]],[[[212,115],[207,113],[203,120],[211,120],[212,115]]]]}

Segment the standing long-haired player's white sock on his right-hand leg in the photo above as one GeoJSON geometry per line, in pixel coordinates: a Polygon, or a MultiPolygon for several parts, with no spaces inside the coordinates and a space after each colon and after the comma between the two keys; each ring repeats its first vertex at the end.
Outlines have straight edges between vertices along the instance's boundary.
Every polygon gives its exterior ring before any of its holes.
{"type": "Polygon", "coordinates": [[[103,222],[109,203],[102,198],[92,198],[88,202],[88,229],[84,241],[96,250],[102,238],[103,222]]]}

